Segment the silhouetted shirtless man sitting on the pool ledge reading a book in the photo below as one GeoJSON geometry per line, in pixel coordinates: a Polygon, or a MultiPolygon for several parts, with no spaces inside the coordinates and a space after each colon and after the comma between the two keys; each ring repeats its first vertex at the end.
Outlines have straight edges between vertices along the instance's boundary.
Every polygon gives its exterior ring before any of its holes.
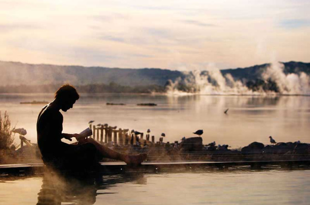
{"type": "Polygon", "coordinates": [[[62,111],[73,108],[79,95],[76,89],[65,84],[55,93],[53,102],[46,105],[40,112],[37,120],[37,140],[44,163],[56,166],[73,166],[78,164],[93,164],[102,158],[122,160],[127,164],[139,164],[146,159],[146,154],[124,155],[118,153],[92,138],[86,138],[73,144],[62,142],[62,138],[72,141],[71,138],[79,134],[62,133],[62,111]]]}

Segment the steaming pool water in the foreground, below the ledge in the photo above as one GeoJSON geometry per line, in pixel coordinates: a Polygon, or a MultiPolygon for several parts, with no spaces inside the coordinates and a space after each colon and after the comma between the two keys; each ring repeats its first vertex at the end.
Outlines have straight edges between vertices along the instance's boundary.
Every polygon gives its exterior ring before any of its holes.
{"type": "Polygon", "coordinates": [[[2,205],[309,205],[310,170],[130,172],[0,181],[2,205]]]}

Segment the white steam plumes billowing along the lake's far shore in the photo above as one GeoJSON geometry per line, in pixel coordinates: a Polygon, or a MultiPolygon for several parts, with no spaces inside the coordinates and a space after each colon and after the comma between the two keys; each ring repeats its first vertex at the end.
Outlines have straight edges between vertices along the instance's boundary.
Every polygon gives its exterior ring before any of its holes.
{"type": "Polygon", "coordinates": [[[229,73],[223,76],[215,66],[184,74],[184,79],[170,81],[168,95],[310,95],[310,77],[304,72],[285,74],[283,63],[270,64],[260,77],[265,83],[275,82],[279,92],[262,87],[253,91],[247,87],[247,79],[235,80],[229,73]]]}

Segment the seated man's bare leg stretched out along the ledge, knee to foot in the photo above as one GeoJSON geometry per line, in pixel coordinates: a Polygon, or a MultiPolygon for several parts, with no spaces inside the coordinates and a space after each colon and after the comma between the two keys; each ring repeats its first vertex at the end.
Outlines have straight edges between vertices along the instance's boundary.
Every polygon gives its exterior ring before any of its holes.
{"type": "Polygon", "coordinates": [[[79,143],[92,143],[93,145],[95,145],[97,150],[103,155],[104,158],[122,160],[126,164],[140,164],[147,157],[147,154],[125,155],[125,154],[116,152],[116,151],[110,149],[109,147],[106,147],[106,146],[96,142],[92,138],[87,138],[83,141],[80,141],[79,143]]]}

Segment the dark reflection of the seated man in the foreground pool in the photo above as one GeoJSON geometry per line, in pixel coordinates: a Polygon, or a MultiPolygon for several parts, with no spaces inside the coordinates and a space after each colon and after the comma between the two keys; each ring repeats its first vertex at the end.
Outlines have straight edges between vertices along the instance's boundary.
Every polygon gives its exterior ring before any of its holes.
{"type": "Polygon", "coordinates": [[[37,205],[93,205],[99,194],[117,192],[103,191],[119,183],[146,184],[141,172],[130,172],[115,175],[99,173],[72,175],[62,173],[44,173],[42,189],[38,193],[37,205]]]}

